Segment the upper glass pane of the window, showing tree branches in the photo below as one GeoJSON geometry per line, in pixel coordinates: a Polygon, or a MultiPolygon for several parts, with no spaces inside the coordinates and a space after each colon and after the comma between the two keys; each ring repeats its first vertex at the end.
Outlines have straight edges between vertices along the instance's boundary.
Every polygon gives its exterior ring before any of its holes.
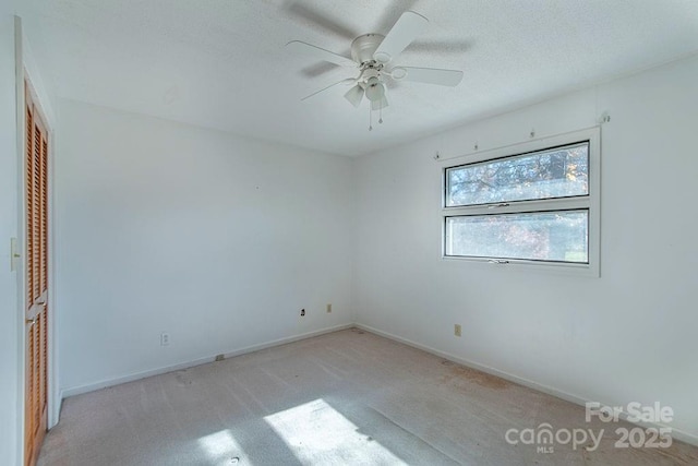
{"type": "Polygon", "coordinates": [[[446,206],[589,194],[589,143],[446,170],[446,206]]]}

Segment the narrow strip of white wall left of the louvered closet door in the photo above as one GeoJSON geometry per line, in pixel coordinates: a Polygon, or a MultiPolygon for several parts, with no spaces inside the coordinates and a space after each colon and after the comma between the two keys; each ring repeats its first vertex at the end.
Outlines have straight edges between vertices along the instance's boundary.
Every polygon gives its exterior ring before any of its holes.
{"type": "Polygon", "coordinates": [[[19,462],[19,325],[16,273],[10,271],[10,238],[17,237],[17,152],[14,16],[0,7],[0,458],[19,462]]]}

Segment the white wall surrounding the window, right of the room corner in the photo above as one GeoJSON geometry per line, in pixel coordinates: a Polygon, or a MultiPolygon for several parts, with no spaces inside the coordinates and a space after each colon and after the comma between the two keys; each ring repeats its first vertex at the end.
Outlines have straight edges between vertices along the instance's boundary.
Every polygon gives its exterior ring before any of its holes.
{"type": "Polygon", "coordinates": [[[359,159],[358,321],[569,398],[661,402],[697,442],[696,83],[694,57],[359,159]],[[436,151],[579,130],[604,110],[600,278],[441,259],[436,151]]]}

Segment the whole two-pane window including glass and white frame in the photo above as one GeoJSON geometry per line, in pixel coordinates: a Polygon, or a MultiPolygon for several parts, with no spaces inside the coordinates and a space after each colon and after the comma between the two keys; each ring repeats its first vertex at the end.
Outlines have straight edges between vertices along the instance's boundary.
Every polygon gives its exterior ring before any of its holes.
{"type": "Polygon", "coordinates": [[[443,254],[598,274],[599,131],[445,167],[443,254]]]}

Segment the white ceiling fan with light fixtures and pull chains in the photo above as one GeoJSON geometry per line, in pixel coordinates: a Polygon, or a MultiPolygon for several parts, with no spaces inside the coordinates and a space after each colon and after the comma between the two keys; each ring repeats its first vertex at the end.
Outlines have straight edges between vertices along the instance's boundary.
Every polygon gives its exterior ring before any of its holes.
{"type": "MultiPolygon", "coordinates": [[[[353,84],[345,98],[354,107],[359,107],[365,95],[371,110],[382,110],[388,106],[386,97],[386,79],[395,81],[414,81],[442,86],[456,86],[462,80],[462,71],[441,70],[436,68],[399,67],[394,60],[412,40],[426,29],[429,20],[413,11],[406,11],[397,20],[393,28],[385,35],[364,34],[351,43],[351,58],[326,50],[301,40],[292,40],[286,47],[294,52],[312,56],[340,67],[359,71],[356,77],[347,77],[330,84],[311,95],[305,100],[338,84],[353,84]]],[[[383,120],[378,120],[383,122],[383,120]]],[[[369,127],[371,130],[371,126],[369,127]]]]}

